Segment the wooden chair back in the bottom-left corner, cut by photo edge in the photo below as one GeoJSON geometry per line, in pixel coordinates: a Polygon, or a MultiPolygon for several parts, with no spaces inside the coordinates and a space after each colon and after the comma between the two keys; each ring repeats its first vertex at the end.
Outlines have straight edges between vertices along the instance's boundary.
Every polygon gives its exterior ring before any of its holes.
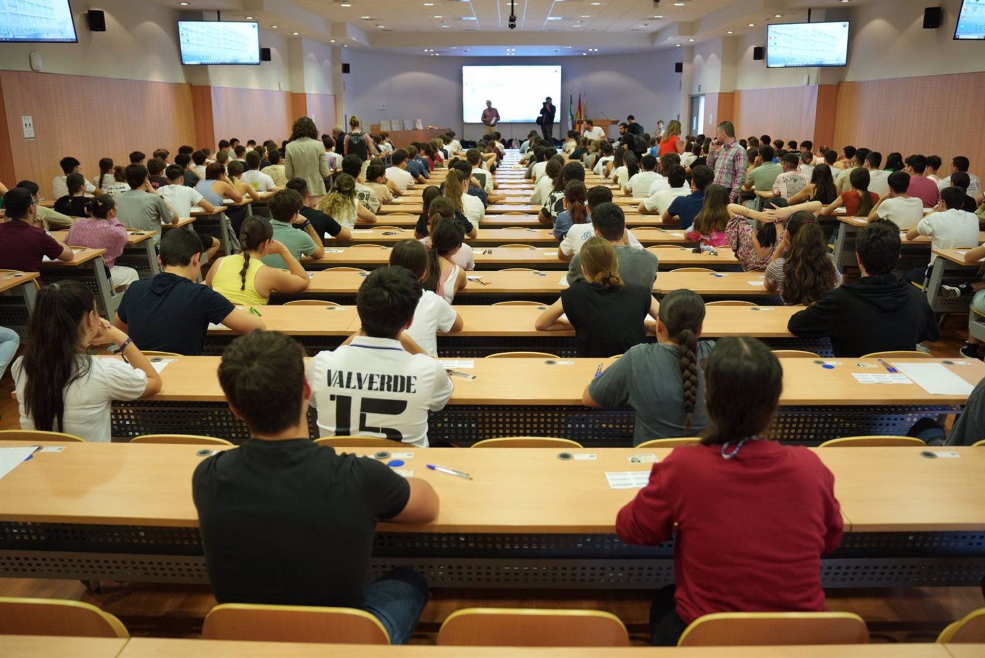
{"type": "Polygon", "coordinates": [[[130,637],[109,613],[81,601],[0,597],[0,635],[130,637]]]}

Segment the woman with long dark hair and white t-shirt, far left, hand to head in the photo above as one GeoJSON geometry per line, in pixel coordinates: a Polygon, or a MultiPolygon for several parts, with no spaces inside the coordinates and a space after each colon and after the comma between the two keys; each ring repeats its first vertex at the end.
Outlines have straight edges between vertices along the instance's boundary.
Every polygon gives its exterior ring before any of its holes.
{"type": "Polygon", "coordinates": [[[77,281],[49,284],[37,294],[28,347],[12,369],[21,428],[64,431],[87,441],[110,439],[113,400],[137,400],[161,390],[161,375],[125,333],[99,317],[96,297],[77,281]],[[122,359],[99,358],[90,347],[115,343],[122,359]]]}

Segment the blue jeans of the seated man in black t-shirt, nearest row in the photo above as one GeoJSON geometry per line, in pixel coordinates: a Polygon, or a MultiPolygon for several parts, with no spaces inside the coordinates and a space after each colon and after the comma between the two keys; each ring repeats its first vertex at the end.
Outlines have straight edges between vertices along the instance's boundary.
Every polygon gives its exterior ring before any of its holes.
{"type": "Polygon", "coordinates": [[[390,633],[391,644],[407,644],[421,621],[427,598],[425,577],[409,566],[400,566],[366,587],[365,608],[390,633]]]}

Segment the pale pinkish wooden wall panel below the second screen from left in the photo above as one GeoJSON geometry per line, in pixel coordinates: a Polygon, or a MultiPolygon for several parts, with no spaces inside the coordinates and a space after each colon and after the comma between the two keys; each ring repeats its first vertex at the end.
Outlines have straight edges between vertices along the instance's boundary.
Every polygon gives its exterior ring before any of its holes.
{"type": "Polygon", "coordinates": [[[291,136],[291,93],[262,89],[212,88],[216,139],[255,139],[278,144],[291,136]]]}

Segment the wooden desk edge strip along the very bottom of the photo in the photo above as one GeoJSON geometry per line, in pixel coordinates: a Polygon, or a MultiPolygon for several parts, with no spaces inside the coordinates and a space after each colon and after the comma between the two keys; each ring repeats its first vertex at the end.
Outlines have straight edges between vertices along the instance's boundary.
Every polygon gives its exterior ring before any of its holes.
{"type": "Polygon", "coordinates": [[[713,647],[472,647],[0,635],[8,658],[980,658],[983,644],[713,647]]]}

